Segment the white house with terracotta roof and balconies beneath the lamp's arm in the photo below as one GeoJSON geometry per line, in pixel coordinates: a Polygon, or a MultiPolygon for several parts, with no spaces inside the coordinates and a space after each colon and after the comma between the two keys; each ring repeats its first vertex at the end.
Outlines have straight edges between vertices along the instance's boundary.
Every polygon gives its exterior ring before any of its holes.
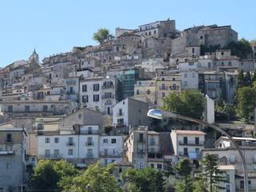
{"type": "Polygon", "coordinates": [[[204,148],[205,135],[199,130],[172,130],[170,138],[174,146],[174,154],[178,158],[191,158],[197,163],[204,148]]]}

